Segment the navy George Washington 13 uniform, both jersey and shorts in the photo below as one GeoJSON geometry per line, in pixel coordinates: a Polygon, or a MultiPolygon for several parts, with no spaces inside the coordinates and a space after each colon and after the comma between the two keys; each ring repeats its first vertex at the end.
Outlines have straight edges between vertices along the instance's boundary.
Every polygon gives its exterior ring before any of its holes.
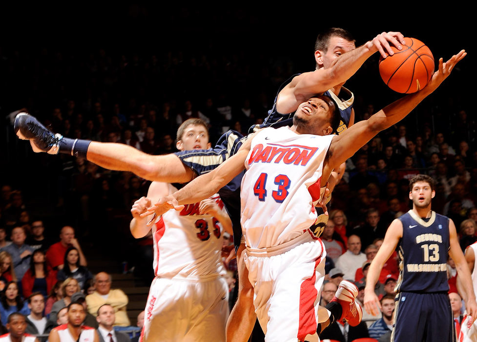
{"type": "Polygon", "coordinates": [[[400,274],[391,341],[455,341],[447,295],[449,218],[431,212],[429,219],[423,219],[410,210],[399,220],[402,222],[398,245],[400,274]]]}

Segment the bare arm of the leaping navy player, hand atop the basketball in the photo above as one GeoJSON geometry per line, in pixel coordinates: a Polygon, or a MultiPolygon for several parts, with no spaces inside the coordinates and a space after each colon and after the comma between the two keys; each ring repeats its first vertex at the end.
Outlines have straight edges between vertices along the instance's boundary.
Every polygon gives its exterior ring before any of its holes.
{"type": "Polygon", "coordinates": [[[401,44],[406,42],[400,32],[383,32],[372,41],[342,55],[342,49],[338,48],[334,53],[339,57],[332,65],[298,75],[280,91],[277,98],[278,112],[292,113],[311,95],[323,93],[335,85],[343,84],[377,51],[384,58],[386,52],[393,55],[390,43],[401,50],[401,44]]]}

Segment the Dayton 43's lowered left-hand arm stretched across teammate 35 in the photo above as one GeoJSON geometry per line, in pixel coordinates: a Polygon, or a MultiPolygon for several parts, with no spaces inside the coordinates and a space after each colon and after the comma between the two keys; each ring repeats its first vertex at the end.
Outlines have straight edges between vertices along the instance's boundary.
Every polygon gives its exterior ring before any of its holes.
{"type": "Polygon", "coordinates": [[[249,138],[244,141],[240,150],[217,169],[197,177],[181,190],[162,197],[146,213],[141,214],[141,217],[145,217],[153,212],[157,215],[162,215],[169,209],[182,210],[183,204],[199,202],[218,192],[245,169],[245,160],[249,154],[252,137],[253,134],[249,135],[249,138]]]}

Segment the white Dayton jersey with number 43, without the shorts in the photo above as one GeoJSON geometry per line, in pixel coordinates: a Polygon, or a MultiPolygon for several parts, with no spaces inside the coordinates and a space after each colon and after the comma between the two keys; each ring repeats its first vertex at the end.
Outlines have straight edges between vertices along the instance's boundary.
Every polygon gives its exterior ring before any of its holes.
{"type": "Polygon", "coordinates": [[[252,140],[242,179],[242,230],[249,248],[280,245],[316,220],[323,161],[334,135],[264,128],[252,140]]]}

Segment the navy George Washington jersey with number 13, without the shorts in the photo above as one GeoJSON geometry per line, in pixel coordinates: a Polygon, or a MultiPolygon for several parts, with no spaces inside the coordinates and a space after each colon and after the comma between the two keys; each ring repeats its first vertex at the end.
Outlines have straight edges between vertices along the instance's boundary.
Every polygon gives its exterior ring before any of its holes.
{"type": "Polygon", "coordinates": [[[399,217],[402,238],[399,243],[398,292],[443,292],[449,290],[449,217],[432,212],[428,222],[410,210],[399,217]]]}

